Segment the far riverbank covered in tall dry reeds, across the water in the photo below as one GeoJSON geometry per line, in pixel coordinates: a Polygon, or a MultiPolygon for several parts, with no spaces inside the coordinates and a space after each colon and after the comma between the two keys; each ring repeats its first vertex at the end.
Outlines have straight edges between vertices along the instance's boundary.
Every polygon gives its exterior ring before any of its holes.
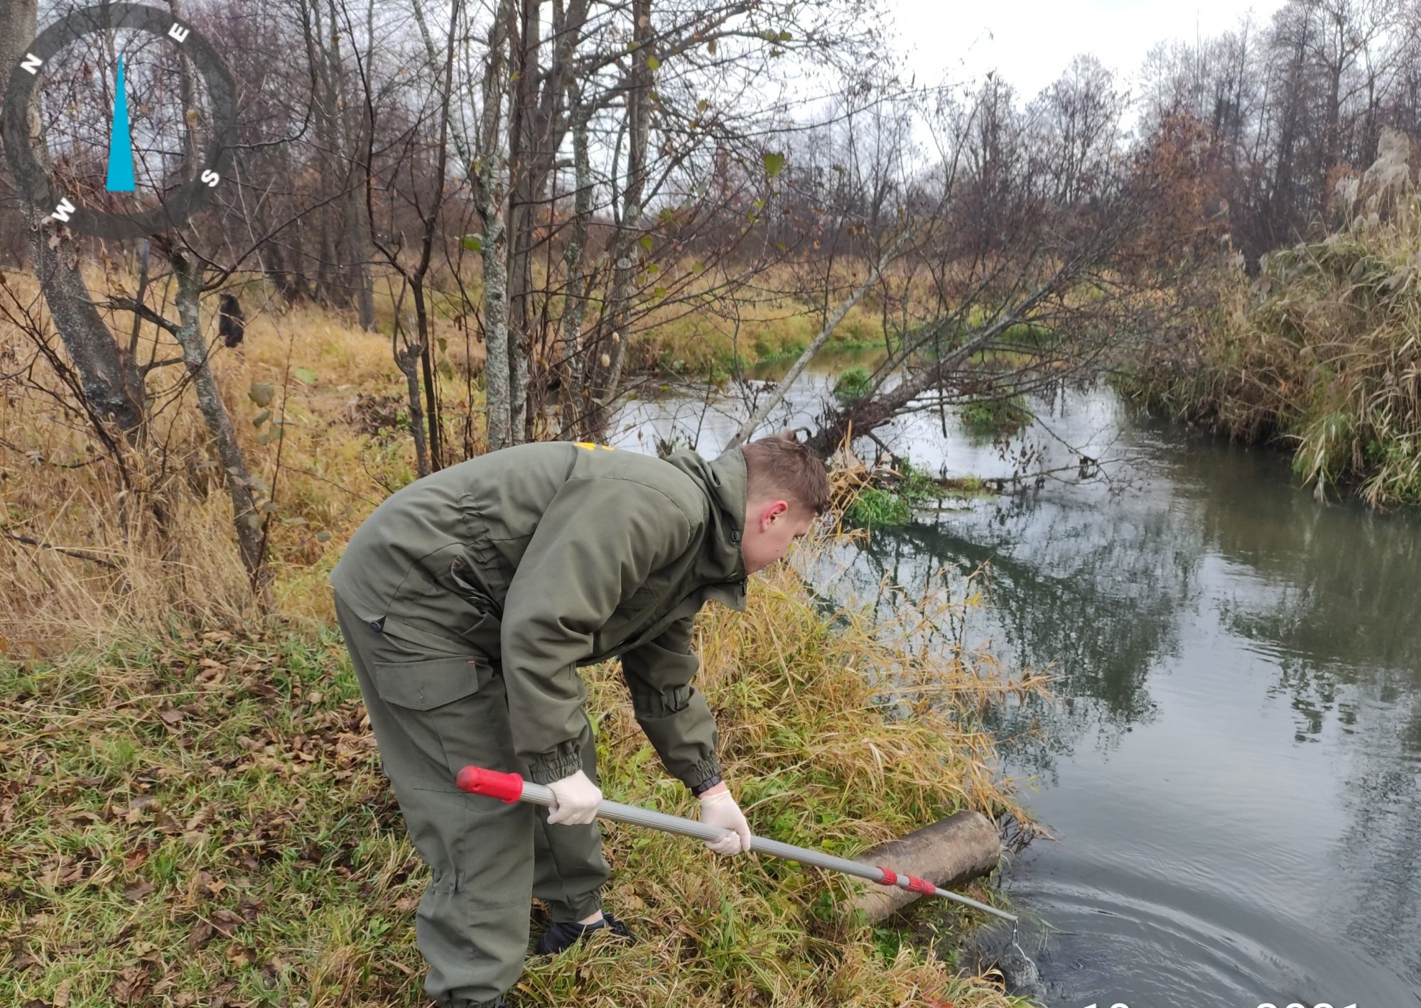
{"type": "Polygon", "coordinates": [[[1205,280],[1209,307],[1177,341],[1151,341],[1118,388],[1233,440],[1290,451],[1319,498],[1418,504],[1421,202],[1403,186],[1341,213],[1324,239],[1265,256],[1256,278],[1238,264],[1205,280]]]}

